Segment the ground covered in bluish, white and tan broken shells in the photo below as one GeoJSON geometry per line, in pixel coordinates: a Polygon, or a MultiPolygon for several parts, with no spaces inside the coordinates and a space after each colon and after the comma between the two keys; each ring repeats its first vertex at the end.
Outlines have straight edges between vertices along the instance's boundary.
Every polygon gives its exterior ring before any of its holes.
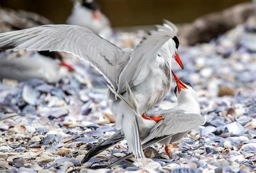
{"type": "MultiPolygon", "coordinates": [[[[136,45],[143,32],[119,33],[122,47],[136,45]]],[[[183,139],[145,151],[148,159],[105,165],[125,155],[125,141],[89,162],[83,156],[117,128],[107,88],[93,68],[68,59],[75,72],[58,83],[42,80],[0,84],[1,172],[253,172],[256,170],[256,44],[254,30],[240,25],[206,44],[180,47],[185,70],[173,68],[196,90],[206,119],[183,139]],[[23,113],[17,114],[15,113],[23,113]]],[[[24,52],[23,52],[24,53],[24,52]]],[[[12,55],[14,53],[11,53],[12,55]]],[[[172,90],[155,110],[176,106],[172,90]]]]}

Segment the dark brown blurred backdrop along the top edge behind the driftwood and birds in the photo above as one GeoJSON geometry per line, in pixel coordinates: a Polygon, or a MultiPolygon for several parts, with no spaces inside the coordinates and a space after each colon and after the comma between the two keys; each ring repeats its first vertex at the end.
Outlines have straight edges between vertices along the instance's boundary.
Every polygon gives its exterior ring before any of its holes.
{"type": "MultiPolygon", "coordinates": [[[[187,23],[210,12],[250,0],[96,0],[113,27],[160,24],[162,19],[187,23]]],[[[63,24],[72,9],[71,0],[0,0],[11,9],[36,12],[63,24]]],[[[0,16],[1,17],[1,16],[0,16]]]]}

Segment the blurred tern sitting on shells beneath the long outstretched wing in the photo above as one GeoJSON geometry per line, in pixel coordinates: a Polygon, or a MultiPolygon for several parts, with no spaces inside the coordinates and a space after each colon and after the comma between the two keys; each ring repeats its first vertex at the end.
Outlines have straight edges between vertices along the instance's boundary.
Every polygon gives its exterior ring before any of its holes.
{"type": "Polygon", "coordinates": [[[10,78],[27,81],[39,78],[49,83],[56,83],[60,78],[68,75],[69,70],[74,70],[70,64],[39,53],[0,59],[0,80],[10,78]]]}

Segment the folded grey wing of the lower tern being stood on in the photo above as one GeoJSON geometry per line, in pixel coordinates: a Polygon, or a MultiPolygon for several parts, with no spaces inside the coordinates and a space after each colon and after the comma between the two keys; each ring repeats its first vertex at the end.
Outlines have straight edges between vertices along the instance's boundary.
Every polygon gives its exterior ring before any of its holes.
{"type": "Polygon", "coordinates": [[[149,136],[142,143],[161,136],[187,132],[205,123],[201,114],[187,113],[181,110],[165,110],[160,114],[164,117],[164,120],[159,121],[151,129],[149,136]]]}

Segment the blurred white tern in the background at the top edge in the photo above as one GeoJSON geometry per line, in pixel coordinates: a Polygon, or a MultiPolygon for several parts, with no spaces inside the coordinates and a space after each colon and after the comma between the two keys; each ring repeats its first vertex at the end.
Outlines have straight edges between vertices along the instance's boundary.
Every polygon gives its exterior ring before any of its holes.
{"type": "Polygon", "coordinates": [[[73,10],[66,24],[87,27],[104,39],[109,39],[112,35],[109,19],[100,12],[99,5],[93,0],[74,0],[73,10]]]}

